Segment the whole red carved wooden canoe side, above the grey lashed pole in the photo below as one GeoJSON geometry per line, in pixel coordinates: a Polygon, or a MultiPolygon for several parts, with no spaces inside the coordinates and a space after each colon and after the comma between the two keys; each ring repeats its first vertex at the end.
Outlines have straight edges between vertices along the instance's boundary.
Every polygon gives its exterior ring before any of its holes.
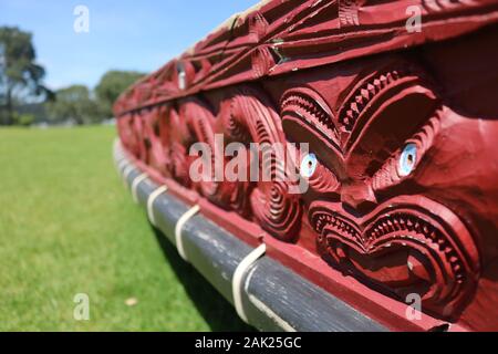
{"type": "Polygon", "coordinates": [[[180,198],[392,329],[498,330],[497,21],[490,0],[267,1],[126,91],[120,137],[180,198]],[[310,153],[281,167],[273,152],[259,174],[277,180],[219,180],[218,163],[256,156],[216,136],[310,153]],[[200,181],[198,142],[222,156],[200,181]],[[414,293],[418,323],[398,305],[414,293]]]}

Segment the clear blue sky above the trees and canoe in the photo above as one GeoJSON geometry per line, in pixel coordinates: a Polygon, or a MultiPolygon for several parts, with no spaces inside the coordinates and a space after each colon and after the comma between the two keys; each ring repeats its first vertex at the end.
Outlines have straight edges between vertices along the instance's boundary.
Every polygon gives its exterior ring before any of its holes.
{"type": "Polygon", "coordinates": [[[45,83],[93,87],[107,70],[151,72],[257,0],[0,0],[0,25],[34,35],[45,83]],[[90,33],[75,33],[76,6],[90,10],[90,33]]]}

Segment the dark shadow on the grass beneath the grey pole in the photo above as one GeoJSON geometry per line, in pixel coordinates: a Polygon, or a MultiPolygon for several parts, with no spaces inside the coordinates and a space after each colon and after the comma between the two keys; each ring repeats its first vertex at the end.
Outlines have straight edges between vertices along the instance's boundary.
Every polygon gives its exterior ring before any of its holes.
{"type": "Polygon", "coordinates": [[[153,226],[151,228],[154,230],[166,261],[172,266],[196,309],[212,331],[256,331],[240,320],[234,306],[194,267],[179,257],[175,247],[160,230],[153,226]]]}

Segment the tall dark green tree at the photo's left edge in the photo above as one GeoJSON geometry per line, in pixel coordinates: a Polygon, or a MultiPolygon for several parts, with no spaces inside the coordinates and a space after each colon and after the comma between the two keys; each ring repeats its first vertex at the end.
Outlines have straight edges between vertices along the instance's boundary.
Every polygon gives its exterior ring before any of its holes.
{"type": "Polygon", "coordinates": [[[15,27],[0,27],[0,124],[14,123],[14,103],[50,96],[43,86],[44,69],[35,63],[32,34],[15,27]]]}

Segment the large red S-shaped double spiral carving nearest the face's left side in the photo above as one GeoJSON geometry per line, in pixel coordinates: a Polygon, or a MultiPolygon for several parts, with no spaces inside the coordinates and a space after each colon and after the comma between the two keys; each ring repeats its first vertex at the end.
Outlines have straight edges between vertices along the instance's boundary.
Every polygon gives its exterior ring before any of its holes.
{"type": "MultiPolygon", "coordinates": [[[[228,139],[247,146],[249,143],[259,143],[261,147],[280,143],[286,147],[280,118],[259,92],[243,87],[232,92],[228,100],[229,104],[221,112],[228,139]]],[[[291,173],[295,167],[290,158],[287,158],[288,164],[282,164],[284,152],[271,152],[271,158],[259,158],[260,176],[250,194],[251,210],[263,229],[279,239],[292,241],[298,237],[302,212],[299,195],[290,192],[291,173]],[[263,181],[263,174],[271,176],[271,180],[263,181]]]]}

